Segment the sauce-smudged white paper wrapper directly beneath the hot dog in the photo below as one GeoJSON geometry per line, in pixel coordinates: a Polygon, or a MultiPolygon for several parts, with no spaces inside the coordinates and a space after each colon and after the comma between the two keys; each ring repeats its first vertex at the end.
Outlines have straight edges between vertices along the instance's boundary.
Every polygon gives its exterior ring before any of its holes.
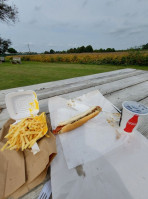
{"type": "MultiPolygon", "coordinates": [[[[67,101],[60,97],[49,99],[48,106],[52,128],[59,122],[75,116],[91,106],[101,106],[108,112],[116,112],[112,104],[98,91],[93,91],[74,100],[67,101]],[[71,105],[70,105],[71,104],[71,105]]],[[[83,126],[59,135],[66,163],[69,169],[95,160],[126,139],[126,135],[117,138],[117,131],[106,121],[106,113],[101,112],[83,126]]]]}

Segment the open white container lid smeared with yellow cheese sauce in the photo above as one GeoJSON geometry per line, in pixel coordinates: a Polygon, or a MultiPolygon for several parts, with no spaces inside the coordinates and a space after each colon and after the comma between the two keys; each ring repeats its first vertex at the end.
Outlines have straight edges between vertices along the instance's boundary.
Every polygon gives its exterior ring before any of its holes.
{"type": "Polygon", "coordinates": [[[39,112],[37,95],[31,90],[8,93],[5,102],[8,113],[14,120],[37,115],[39,112]]]}

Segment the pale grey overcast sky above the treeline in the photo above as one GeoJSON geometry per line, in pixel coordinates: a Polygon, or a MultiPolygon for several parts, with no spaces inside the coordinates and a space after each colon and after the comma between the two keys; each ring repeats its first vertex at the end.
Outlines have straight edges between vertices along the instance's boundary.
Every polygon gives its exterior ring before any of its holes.
{"type": "Polygon", "coordinates": [[[148,43],[148,0],[9,0],[19,22],[0,22],[0,36],[17,51],[92,45],[127,49],[148,43]]]}

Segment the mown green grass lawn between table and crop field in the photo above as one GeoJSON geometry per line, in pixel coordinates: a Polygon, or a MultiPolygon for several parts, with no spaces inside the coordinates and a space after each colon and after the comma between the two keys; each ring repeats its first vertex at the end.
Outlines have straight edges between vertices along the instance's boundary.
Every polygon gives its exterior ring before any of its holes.
{"type": "Polygon", "coordinates": [[[0,64],[0,90],[67,79],[72,77],[102,73],[121,68],[136,68],[148,70],[147,66],[114,66],[114,65],[88,65],[63,64],[46,62],[23,62],[0,64]]]}

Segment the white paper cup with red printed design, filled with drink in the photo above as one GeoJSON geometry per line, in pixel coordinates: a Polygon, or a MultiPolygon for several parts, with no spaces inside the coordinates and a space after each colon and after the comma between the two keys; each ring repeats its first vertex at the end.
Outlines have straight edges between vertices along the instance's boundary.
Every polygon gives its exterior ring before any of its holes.
{"type": "Polygon", "coordinates": [[[133,133],[138,127],[139,117],[142,115],[148,115],[148,108],[141,103],[134,101],[125,101],[122,103],[122,107],[120,129],[126,133],[133,133]],[[130,106],[135,106],[136,108],[132,110],[128,108],[130,106]]]}

